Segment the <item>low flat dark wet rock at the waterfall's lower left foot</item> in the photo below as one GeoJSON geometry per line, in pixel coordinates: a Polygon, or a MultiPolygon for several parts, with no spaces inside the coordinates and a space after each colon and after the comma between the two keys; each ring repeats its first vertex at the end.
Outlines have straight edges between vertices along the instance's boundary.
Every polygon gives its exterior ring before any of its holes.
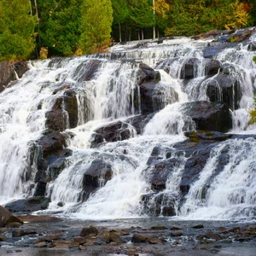
{"type": "Polygon", "coordinates": [[[6,208],[10,212],[34,212],[45,210],[49,206],[50,199],[44,196],[36,196],[10,202],[6,208]]]}

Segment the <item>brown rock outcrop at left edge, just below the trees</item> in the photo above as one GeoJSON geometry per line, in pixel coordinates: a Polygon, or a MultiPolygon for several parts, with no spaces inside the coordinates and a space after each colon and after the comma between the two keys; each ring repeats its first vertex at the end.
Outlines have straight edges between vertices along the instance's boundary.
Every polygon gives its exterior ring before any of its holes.
{"type": "Polygon", "coordinates": [[[3,61],[0,62],[0,93],[11,82],[16,80],[16,75],[21,78],[28,70],[25,61],[3,61]]]}

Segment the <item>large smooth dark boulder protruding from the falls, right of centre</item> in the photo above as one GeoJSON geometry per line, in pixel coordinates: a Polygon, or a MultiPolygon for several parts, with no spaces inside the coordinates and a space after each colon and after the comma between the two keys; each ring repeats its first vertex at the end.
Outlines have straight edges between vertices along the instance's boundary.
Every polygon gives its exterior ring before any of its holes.
{"type": "Polygon", "coordinates": [[[195,122],[197,130],[227,132],[232,128],[229,107],[221,102],[186,102],[183,114],[195,122]]]}

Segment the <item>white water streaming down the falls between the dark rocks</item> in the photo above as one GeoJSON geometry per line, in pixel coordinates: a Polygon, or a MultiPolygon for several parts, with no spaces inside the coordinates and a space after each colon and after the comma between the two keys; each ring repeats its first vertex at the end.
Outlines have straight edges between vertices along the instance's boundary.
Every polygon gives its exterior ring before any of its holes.
{"type": "MultiPolygon", "coordinates": [[[[247,127],[247,108],[253,107],[256,87],[256,66],[252,61],[254,54],[241,48],[226,49],[216,56],[234,67],[231,73],[241,84],[240,108],[233,111],[233,132],[255,131],[255,126],[247,127]]],[[[189,41],[183,45],[127,49],[124,57],[160,68],[161,79],[156,90],[161,95],[163,109],[154,114],[142,135],[137,135],[130,127],[133,135],[123,142],[90,148],[91,134],[96,128],[138,113],[133,105],[133,99],[139,97],[140,93],[137,61],[87,57],[33,61],[23,78],[0,94],[0,203],[32,195],[30,185],[34,183],[38,170],[35,156],[31,155],[29,148],[45,129],[45,113],[52,108],[55,99],[64,93],[60,90],[53,95],[53,91],[63,84],[71,84],[78,91],[79,123],[76,128],[67,127],[64,131],[75,134],[68,141],[73,155],[67,158],[67,167],[60,175],[48,183],[47,195],[52,200],[49,210],[61,210],[75,218],[143,216],[141,196],[152,193],[143,172],[148,167],[148,157],[155,146],[172,148],[174,143],[185,139],[183,131],[195,129],[194,122],[182,113],[182,102],[207,100],[207,82],[215,79],[215,76],[206,77],[206,61],[201,47],[195,47],[189,41]],[[185,84],[181,79],[182,68],[191,57],[198,59],[195,79],[185,84]],[[166,73],[165,67],[157,64],[163,59],[172,60],[166,61],[170,64],[169,73],[166,73]],[[84,74],[90,71],[94,61],[98,61],[96,73],[90,79],[84,79],[84,74]],[[175,103],[172,103],[175,97],[173,90],[178,96],[175,103]],[[112,178],[105,184],[100,180],[100,188],[87,201],[83,201],[84,173],[94,160],[103,160],[111,166],[112,178]],[[60,201],[63,207],[57,205],[60,201]]],[[[38,154],[37,150],[35,154],[38,154]]],[[[177,209],[179,218],[253,217],[256,198],[255,155],[256,144],[250,138],[226,141],[213,148],[207,165],[189,189],[186,201],[177,209]],[[222,172],[213,177],[223,148],[228,148],[230,161],[222,172]],[[212,182],[202,198],[201,192],[209,178],[212,178],[212,182]]],[[[166,159],[165,154],[161,157],[166,159]]],[[[166,189],[162,191],[166,195],[179,194],[179,183],[187,158],[182,156],[181,159],[182,164],[166,181],[166,189]]]]}

